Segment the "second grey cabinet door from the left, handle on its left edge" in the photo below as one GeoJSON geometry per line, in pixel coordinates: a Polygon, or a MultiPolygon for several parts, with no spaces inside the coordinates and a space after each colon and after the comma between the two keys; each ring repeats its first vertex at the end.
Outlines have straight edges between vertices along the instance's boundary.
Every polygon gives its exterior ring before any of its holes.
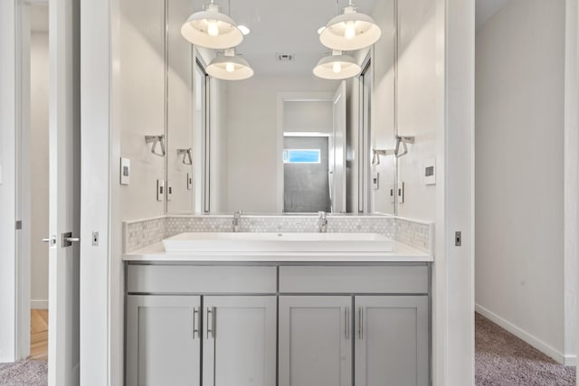
{"type": "Polygon", "coordinates": [[[276,297],[204,297],[204,386],[271,386],[276,297]]]}

